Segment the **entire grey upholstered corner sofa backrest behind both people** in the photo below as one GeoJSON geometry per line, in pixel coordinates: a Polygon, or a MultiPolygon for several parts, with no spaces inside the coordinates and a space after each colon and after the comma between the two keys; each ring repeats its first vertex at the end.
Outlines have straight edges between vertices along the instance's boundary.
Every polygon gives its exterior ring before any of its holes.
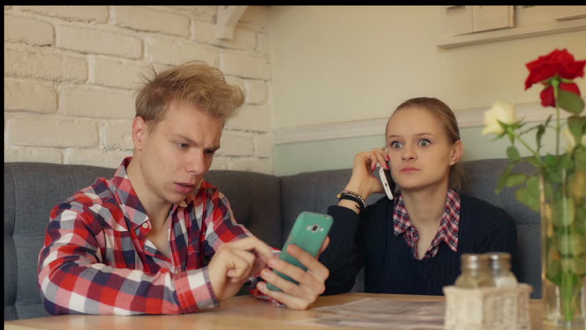
{"type": "MultiPolygon", "coordinates": [[[[464,192],[504,208],[517,223],[519,280],[533,285],[541,297],[541,235],[539,215],[514,198],[514,190],[495,195],[506,159],[463,163],[470,174],[464,192]]],[[[518,171],[527,173],[528,166],[518,171]]],[[[97,177],[110,178],[115,169],[85,165],[32,162],[4,163],[4,320],[47,316],[41,305],[36,266],[50,210],[97,177]]],[[[228,197],[239,223],[268,244],[281,248],[299,212],[326,212],[351,169],[323,170],[274,177],[243,171],[211,170],[206,179],[228,197]]],[[[372,203],[382,195],[369,197],[372,203]]],[[[354,291],[363,288],[362,275],[354,291]]]]}

